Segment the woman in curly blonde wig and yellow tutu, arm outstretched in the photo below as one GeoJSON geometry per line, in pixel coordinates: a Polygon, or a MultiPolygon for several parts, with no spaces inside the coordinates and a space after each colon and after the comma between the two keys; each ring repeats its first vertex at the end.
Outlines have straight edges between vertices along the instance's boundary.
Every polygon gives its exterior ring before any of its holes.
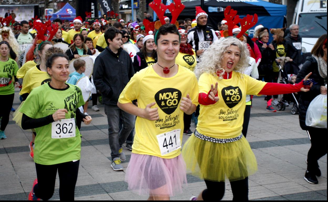
{"type": "Polygon", "coordinates": [[[304,88],[303,82],[296,85],[265,83],[243,74],[248,66],[248,50],[234,37],[214,42],[200,61],[195,68],[199,78],[198,124],[182,151],[187,172],[205,180],[207,189],[199,194],[198,200],[221,199],[225,179],[230,181],[233,200],[248,200],[248,176],[257,171],[257,162],[241,133],[246,95],[309,89],[304,88]]]}

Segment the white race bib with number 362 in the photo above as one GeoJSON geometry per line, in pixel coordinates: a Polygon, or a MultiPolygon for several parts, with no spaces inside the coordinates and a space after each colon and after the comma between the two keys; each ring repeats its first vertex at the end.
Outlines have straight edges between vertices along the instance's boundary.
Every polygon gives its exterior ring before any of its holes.
{"type": "Polygon", "coordinates": [[[61,119],[51,123],[51,138],[72,138],[75,137],[75,120],[61,119]]]}

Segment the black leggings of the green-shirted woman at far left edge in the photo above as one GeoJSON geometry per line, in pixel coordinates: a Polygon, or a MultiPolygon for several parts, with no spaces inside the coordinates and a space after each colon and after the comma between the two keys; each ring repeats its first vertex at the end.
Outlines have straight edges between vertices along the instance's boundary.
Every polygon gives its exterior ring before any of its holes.
{"type": "Polygon", "coordinates": [[[9,115],[10,115],[10,110],[12,107],[12,102],[14,101],[14,94],[10,95],[0,95],[0,117],[1,119],[1,131],[5,131],[8,122],[9,122],[9,115]]]}

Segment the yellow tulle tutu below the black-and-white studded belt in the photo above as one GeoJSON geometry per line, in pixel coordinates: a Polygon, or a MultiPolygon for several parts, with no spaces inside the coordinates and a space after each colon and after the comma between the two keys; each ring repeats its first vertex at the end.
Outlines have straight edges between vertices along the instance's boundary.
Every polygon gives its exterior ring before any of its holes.
{"type": "Polygon", "coordinates": [[[246,140],[215,143],[192,135],[184,144],[182,155],[187,173],[216,182],[245,179],[257,171],[257,162],[246,140]]]}

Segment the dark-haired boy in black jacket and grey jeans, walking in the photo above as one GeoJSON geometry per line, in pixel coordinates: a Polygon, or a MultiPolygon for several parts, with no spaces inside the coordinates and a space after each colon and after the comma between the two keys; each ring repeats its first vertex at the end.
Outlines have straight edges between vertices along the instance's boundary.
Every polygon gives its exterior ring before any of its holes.
{"type": "Polygon", "coordinates": [[[105,32],[107,47],[94,62],[93,82],[100,90],[108,119],[108,136],[111,147],[114,171],[123,171],[121,160],[126,159],[122,152],[122,144],[133,130],[135,117],[117,107],[118,97],[134,74],[130,55],[121,48],[122,32],[116,28],[109,28],[105,32]],[[119,131],[119,120],[123,127],[119,131]]]}

